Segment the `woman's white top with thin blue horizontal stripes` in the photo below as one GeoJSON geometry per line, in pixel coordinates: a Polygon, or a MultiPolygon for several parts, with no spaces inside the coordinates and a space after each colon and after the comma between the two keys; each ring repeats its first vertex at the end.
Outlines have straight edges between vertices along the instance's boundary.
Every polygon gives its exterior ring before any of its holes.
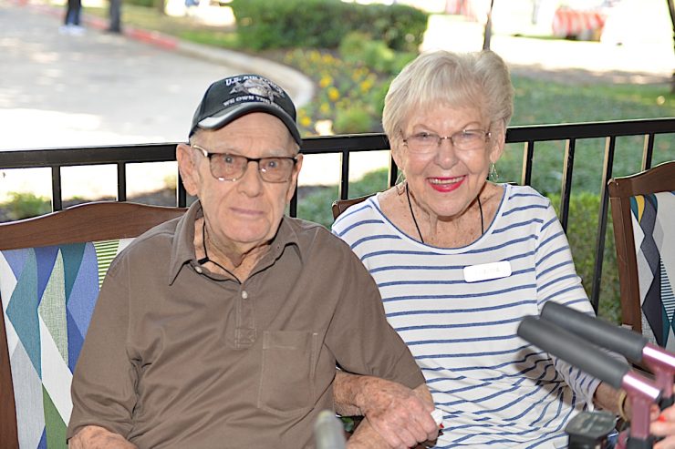
{"type": "Polygon", "coordinates": [[[593,310],[549,200],[529,187],[504,189],[490,228],[462,248],[410,239],[377,197],[333,225],[377,282],[389,323],[444,412],[436,447],[565,447],[567,421],[599,383],[516,335],[545,301],[593,310]],[[464,280],[464,267],[502,260],[510,276],[464,280]]]}

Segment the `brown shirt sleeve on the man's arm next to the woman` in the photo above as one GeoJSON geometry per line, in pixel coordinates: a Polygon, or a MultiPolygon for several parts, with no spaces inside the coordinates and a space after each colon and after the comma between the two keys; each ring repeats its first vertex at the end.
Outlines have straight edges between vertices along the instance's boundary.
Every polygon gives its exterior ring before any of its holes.
{"type": "Polygon", "coordinates": [[[387,321],[378,286],[346,245],[333,284],[340,299],[327,332],[327,345],[340,368],[416,388],[424,383],[408,346],[387,321]]]}

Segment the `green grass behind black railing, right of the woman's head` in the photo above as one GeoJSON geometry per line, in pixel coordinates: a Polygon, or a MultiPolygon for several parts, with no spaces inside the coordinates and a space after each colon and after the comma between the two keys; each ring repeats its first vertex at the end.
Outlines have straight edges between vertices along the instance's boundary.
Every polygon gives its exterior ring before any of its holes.
{"type": "MultiPolygon", "coordinates": [[[[668,85],[622,85],[587,82],[570,85],[534,77],[513,77],[515,88],[512,125],[576,123],[630,118],[675,117],[675,96],[668,85]]],[[[639,171],[642,138],[618,138],[614,176],[639,171]]],[[[605,140],[576,144],[573,189],[598,193],[605,140]]],[[[564,144],[542,142],[535,147],[533,186],[543,193],[560,191],[564,144]]],[[[675,159],[675,137],[657,136],[654,164],[675,159]]],[[[522,145],[507,146],[497,164],[506,181],[520,181],[522,145]]]]}

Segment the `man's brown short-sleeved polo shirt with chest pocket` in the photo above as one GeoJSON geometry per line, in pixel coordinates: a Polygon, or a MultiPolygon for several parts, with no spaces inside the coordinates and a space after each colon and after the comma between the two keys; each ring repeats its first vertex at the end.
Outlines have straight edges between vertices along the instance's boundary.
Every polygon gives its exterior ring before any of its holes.
{"type": "Polygon", "coordinates": [[[73,377],[68,437],[93,424],[140,448],[313,447],[336,363],[424,382],[343,241],[284,218],[240,283],[195,260],[201,213],[193,204],[110,267],[73,377]]]}

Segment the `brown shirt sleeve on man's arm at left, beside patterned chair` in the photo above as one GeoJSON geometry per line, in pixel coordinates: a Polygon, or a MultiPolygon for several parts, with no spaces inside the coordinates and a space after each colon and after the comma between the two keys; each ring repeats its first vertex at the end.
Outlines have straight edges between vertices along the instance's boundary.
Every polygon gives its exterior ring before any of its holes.
{"type": "Polygon", "coordinates": [[[137,372],[127,352],[127,281],[124,262],[116,260],[101,286],[73,375],[68,438],[86,425],[99,425],[124,437],[130,432],[137,372]]]}

